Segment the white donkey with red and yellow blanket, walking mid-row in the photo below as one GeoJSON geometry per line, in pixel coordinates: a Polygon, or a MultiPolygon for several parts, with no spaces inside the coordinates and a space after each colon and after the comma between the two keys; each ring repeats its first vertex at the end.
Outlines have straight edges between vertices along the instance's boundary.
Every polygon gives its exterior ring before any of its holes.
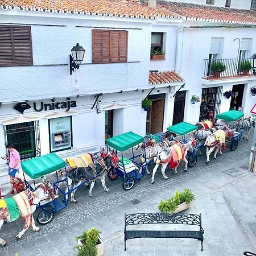
{"type": "Polygon", "coordinates": [[[179,163],[181,161],[185,162],[185,167],[184,167],[184,171],[187,171],[188,169],[188,160],[186,159],[186,155],[189,149],[192,149],[193,147],[196,147],[196,141],[195,138],[190,138],[189,141],[187,143],[175,143],[173,146],[171,147],[167,147],[164,148],[162,151],[159,152],[159,154],[156,156],[155,158],[155,167],[153,169],[153,174],[151,177],[151,183],[155,183],[155,173],[158,170],[158,167],[160,164],[162,164],[161,167],[161,172],[163,174],[164,179],[168,179],[168,177],[165,174],[166,171],[166,167],[168,166],[168,164],[170,163],[171,168],[174,168],[175,170],[175,174],[177,173],[177,167],[179,166],[179,163]],[[180,160],[178,162],[174,162],[174,154],[176,152],[176,146],[181,148],[181,157],[180,160]]]}

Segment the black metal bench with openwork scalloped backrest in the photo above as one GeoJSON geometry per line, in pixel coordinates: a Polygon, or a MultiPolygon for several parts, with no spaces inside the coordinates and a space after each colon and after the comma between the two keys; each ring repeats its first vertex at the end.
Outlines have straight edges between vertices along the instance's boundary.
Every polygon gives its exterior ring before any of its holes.
{"type": "Polygon", "coordinates": [[[202,228],[201,213],[134,213],[125,214],[125,251],[126,240],[133,238],[193,238],[201,241],[203,251],[204,229],[202,228]],[[142,224],[183,224],[197,225],[199,230],[126,230],[129,225],[142,224]]]}

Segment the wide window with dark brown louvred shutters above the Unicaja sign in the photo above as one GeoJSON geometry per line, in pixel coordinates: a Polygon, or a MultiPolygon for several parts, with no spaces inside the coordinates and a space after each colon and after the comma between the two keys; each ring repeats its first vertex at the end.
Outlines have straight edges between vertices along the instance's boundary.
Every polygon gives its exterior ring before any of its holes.
{"type": "Polygon", "coordinates": [[[0,26],[0,67],[33,65],[31,27],[0,26]]]}

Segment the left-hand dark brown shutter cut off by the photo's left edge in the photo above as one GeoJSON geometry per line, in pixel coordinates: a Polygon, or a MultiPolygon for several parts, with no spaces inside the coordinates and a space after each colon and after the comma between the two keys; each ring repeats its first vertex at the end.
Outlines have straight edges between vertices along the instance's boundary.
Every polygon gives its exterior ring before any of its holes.
{"type": "Polygon", "coordinates": [[[0,26],[0,67],[14,65],[11,38],[11,27],[0,26]]]}

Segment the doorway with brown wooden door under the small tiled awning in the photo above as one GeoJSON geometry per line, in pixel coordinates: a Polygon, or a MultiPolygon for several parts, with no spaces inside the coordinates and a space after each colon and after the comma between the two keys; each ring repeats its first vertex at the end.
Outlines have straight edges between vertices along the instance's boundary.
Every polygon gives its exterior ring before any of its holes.
{"type": "Polygon", "coordinates": [[[148,99],[152,100],[152,106],[147,111],[146,133],[163,131],[165,97],[164,93],[148,96],[148,99]]]}

